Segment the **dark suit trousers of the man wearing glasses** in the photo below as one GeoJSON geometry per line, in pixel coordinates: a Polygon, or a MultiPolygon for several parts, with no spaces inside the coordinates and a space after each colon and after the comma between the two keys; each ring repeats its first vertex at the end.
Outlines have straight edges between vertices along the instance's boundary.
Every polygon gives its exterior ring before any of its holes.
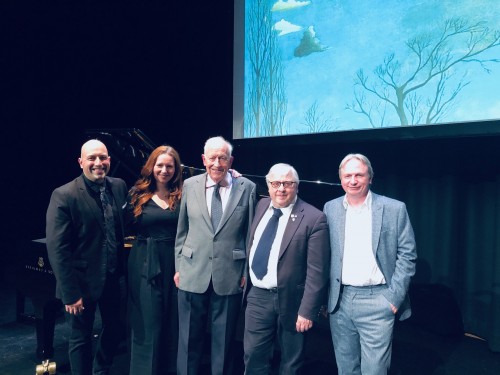
{"type": "Polygon", "coordinates": [[[299,374],[304,364],[305,334],[283,327],[280,319],[278,293],[252,287],[245,311],[245,374],[267,375],[276,336],[280,344],[280,374],[299,374]]]}

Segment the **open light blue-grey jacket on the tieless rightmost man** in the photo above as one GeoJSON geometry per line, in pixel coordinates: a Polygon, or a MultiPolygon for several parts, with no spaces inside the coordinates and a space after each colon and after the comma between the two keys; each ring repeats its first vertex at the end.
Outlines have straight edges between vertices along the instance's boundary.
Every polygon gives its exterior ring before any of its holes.
{"type": "MultiPolygon", "coordinates": [[[[399,319],[403,320],[411,315],[408,288],[410,279],[415,274],[417,259],[413,228],[403,202],[374,193],[372,198],[372,247],[388,286],[384,296],[398,309],[399,319]]],[[[323,209],[328,219],[332,247],[328,299],[330,313],[339,302],[342,285],[346,218],[343,199],[342,196],[331,200],[323,209]]]]}

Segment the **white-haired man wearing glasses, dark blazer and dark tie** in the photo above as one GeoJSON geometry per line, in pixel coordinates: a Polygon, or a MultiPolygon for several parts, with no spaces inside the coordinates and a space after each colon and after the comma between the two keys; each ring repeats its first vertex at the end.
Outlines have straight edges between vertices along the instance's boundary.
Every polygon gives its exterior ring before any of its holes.
{"type": "Polygon", "coordinates": [[[330,243],[323,212],[297,197],[299,176],[276,164],[250,230],[245,288],[245,374],[269,374],[278,338],[280,374],[297,374],[304,338],[326,304],[330,243]]]}

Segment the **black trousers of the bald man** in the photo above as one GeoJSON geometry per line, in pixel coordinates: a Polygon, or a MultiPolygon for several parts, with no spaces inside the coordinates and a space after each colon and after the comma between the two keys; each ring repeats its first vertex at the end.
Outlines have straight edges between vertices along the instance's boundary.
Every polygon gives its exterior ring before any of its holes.
{"type": "Polygon", "coordinates": [[[81,315],[70,315],[69,360],[72,375],[107,374],[113,356],[125,336],[125,327],[120,319],[121,304],[120,279],[108,273],[106,282],[97,302],[83,300],[85,309],[81,315]],[[97,306],[101,314],[102,329],[92,361],[92,333],[97,306]],[[92,366],[93,362],[93,366],[92,366]]]}

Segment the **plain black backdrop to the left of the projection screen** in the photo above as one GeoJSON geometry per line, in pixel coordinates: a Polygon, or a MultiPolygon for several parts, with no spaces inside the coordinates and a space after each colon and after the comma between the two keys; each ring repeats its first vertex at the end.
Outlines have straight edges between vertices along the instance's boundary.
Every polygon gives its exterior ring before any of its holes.
{"type": "Polygon", "coordinates": [[[206,138],[231,138],[232,1],[21,0],[0,17],[3,238],[44,236],[85,129],[139,128],[197,167],[206,138]]]}

